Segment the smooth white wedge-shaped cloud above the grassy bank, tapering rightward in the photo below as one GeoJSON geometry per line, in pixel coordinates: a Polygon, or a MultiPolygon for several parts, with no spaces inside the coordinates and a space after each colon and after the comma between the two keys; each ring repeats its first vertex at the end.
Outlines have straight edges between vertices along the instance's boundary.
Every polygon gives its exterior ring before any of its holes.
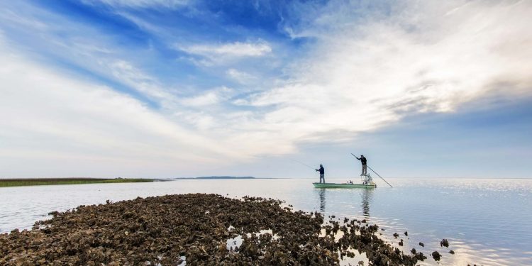
{"type": "Polygon", "coordinates": [[[1,43],[0,60],[4,177],[171,177],[240,157],[129,96],[62,77],[1,43]]]}

